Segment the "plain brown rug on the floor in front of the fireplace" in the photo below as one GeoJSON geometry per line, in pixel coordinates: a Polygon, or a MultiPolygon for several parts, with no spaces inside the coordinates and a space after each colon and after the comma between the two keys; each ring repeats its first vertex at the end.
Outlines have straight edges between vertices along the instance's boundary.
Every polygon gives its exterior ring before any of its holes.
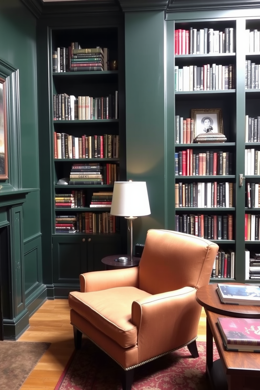
{"type": "Polygon", "coordinates": [[[47,342],[0,341],[0,389],[19,390],[50,345],[47,342]]]}

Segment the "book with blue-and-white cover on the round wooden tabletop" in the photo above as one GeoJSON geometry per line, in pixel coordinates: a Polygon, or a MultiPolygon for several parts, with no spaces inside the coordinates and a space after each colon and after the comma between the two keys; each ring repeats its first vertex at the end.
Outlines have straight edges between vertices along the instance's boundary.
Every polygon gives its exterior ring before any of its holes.
{"type": "Polygon", "coordinates": [[[258,285],[218,283],[217,292],[222,303],[260,306],[260,287],[258,285]]]}

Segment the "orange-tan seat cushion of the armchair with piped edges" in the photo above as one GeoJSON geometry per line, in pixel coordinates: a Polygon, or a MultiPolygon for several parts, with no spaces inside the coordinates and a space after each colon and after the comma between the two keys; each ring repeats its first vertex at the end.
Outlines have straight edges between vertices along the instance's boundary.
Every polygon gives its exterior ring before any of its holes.
{"type": "Polygon", "coordinates": [[[131,323],[133,301],[151,294],[136,287],[114,287],[101,291],[69,294],[69,305],[100,332],[123,348],[137,344],[137,328],[131,323]]]}

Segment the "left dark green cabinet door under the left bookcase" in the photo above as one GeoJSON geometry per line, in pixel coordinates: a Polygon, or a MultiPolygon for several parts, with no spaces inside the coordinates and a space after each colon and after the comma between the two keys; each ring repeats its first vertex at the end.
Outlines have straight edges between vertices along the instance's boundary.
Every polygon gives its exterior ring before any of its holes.
{"type": "Polygon", "coordinates": [[[80,283],[79,276],[87,272],[87,236],[54,236],[52,238],[53,283],[80,283]]]}

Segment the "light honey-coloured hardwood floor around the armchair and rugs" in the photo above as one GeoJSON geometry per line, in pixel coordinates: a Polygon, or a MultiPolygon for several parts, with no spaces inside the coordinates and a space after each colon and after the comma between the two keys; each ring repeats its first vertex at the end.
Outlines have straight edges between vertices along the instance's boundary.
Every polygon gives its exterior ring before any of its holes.
{"type": "MultiPolygon", "coordinates": [[[[30,318],[30,328],[19,341],[43,341],[51,345],[39,360],[21,390],[54,390],[74,351],[73,328],[67,300],[48,300],[30,318]]],[[[198,341],[206,341],[206,315],[202,308],[198,341]]]]}

